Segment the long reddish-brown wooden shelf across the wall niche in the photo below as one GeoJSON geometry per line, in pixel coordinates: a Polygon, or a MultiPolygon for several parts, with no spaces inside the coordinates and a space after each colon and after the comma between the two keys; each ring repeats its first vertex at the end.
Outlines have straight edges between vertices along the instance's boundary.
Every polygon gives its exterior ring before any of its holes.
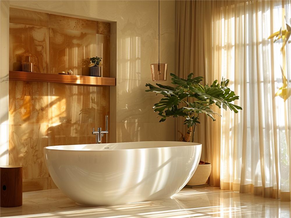
{"type": "Polygon", "coordinates": [[[66,83],[73,85],[116,85],[116,78],[97,77],[97,76],[76,76],[63,74],[41,74],[22,71],[9,71],[9,80],[47,82],[47,83],[66,83]]]}

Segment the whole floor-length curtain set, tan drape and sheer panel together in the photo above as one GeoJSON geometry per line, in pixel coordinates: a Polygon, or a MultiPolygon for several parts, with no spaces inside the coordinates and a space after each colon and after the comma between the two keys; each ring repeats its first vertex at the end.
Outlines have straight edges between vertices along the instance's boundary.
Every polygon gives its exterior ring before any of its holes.
{"type": "Polygon", "coordinates": [[[210,185],[290,201],[291,100],[274,95],[280,65],[290,79],[291,44],[281,55],[282,44],[267,40],[285,28],[290,7],[290,0],[176,3],[177,74],[193,72],[205,83],[229,78],[243,107],[236,115],[219,111],[215,122],[200,118],[195,141],[212,163],[210,185]]]}

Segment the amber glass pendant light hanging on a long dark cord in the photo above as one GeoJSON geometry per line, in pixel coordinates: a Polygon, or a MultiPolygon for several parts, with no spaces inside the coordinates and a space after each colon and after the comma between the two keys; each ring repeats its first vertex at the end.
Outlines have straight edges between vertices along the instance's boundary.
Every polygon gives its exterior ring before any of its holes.
{"type": "Polygon", "coordinates": [[[151,64],[152,81],[166,81],[167,80],[168,64],[160,63],[160,0],[159,0],[159,63],[151,64]]]}

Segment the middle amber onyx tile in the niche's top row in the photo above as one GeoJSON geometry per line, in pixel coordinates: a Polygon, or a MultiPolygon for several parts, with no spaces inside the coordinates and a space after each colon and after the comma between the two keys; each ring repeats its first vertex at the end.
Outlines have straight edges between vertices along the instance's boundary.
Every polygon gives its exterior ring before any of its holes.
{"type": "Polygon", "coordinates": [[[96,21],[94,20],[49,14],[49,27],[56,29],[74,30],[84,33],[96,33],[97,25],[96,21]]]}

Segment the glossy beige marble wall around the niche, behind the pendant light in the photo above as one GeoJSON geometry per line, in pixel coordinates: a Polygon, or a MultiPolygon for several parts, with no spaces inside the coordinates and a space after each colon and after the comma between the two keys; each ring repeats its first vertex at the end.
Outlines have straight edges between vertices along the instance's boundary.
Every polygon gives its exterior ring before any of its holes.
{"type": "MultiPolygon", "coordinates": [[[[110,88],[111,142],[175,140],[174,120],[159,123],[152,110],[160,97],[144,91],[145,83],[155,83],[150,64],[158,61],[158,1],[10,1],[10,7],[111,21],[111,76],[117,78],[110,88]]],[[[160,60],[169,64],[169,76],[175,69],[175,1],[160,1],[160,15],[160,60]]]]}

